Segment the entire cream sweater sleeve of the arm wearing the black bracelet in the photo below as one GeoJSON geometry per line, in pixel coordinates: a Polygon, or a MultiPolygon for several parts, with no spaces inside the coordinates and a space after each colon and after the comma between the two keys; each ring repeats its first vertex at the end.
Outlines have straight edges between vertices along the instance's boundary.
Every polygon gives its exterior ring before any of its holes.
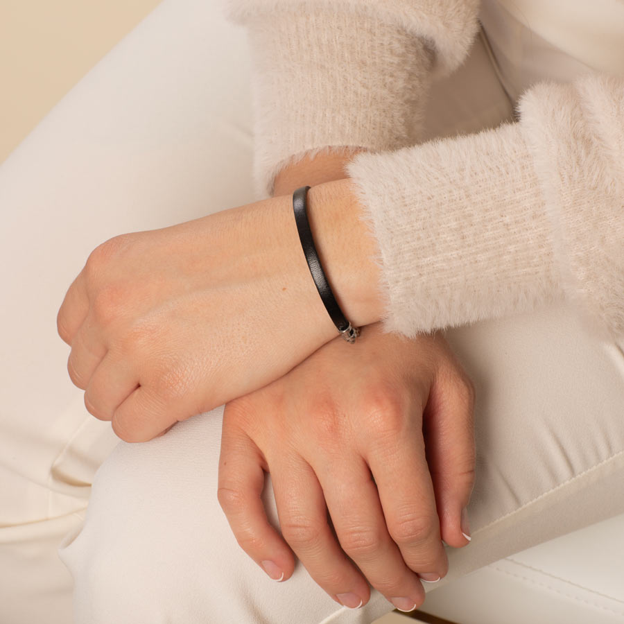
{"type": "Polygon", "coordinates": [[[379,253],[384,331],[414,336],[557,299],[624,336],[624,79],[539,83],[520,121],[349,164],[379,253]]]}

